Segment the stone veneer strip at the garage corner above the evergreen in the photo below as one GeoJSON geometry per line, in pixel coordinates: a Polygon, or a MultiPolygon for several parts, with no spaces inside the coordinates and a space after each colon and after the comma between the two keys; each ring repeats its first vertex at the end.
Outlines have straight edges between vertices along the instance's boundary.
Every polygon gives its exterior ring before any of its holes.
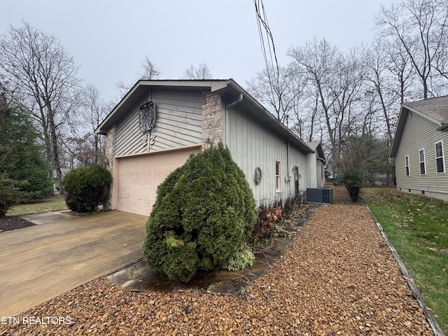
{"type": "Polygon", "coordinates": [[[223,104],[214,92],[202,92],[202,143],[218,144],[223,135],[223,104]]]}

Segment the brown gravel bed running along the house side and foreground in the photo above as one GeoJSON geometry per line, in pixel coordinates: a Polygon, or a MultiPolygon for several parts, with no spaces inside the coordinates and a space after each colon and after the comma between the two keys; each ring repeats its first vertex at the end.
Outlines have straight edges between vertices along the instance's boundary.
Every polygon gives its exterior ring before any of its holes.
{"type": "Polygon", "coordinates": [[[0,335],[433,335],[367,209],[347,204],[320,207],[235,297],[133,293],[102,277],[15,318],[0,335]]]}

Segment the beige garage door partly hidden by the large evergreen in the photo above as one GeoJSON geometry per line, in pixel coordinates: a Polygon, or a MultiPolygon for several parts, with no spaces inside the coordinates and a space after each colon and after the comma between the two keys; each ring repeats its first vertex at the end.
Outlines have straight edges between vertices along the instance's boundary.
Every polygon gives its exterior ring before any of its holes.
{"type": "Polygon", "coordinates": [[[132,214],[149,216],[158,185],[169,173],[183,165],[191,153],[199,151],[200,147],[196,147],[118,158],[113,182],[112,207],[132,214]]]}

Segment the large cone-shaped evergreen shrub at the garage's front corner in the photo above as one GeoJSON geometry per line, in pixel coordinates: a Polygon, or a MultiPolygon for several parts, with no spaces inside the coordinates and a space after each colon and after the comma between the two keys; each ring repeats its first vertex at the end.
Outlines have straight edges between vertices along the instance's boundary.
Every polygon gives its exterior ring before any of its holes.
{"type": "Polygon", "coordinates": [[[197,155],[158,186],[143,256],[173,281],[228,265],[257,217],[244,173],[222,144],[197,155]]]}

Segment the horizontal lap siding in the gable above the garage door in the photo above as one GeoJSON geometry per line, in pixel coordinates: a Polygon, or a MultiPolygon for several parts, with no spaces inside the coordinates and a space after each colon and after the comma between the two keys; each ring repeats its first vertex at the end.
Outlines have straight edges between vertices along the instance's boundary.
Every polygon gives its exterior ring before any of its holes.
{"type": "Polygon", "coordinates": [[[149,100],[155,103],[157,116],[151,152],[202,142],[202,92],[153,89],[118,123],[115,156],[148,152],[146,134],[139,129],[139,107],[149,100]]]}

